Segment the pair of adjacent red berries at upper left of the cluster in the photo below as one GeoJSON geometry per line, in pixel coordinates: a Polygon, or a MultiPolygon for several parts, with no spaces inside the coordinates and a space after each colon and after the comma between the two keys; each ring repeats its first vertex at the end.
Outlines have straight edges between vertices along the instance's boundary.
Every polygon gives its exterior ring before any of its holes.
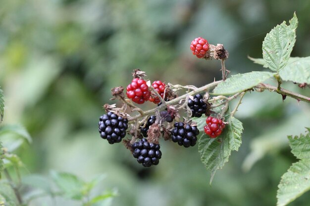
{"type": "MultiPolygon", "coordinates": [[[[155,88],[158,94],[163,97],[166,84],[161,81],[155,81],[152,83],[152,86],[155,88]]],[[[151,101],[155,104],[160,102],[159,98],[155,94],[152,94],[151,91],[149,91],[147,82],[139,78],[133,79],[132,82],[127,86],[126,95],[129,99],[132,99],[132,101],[136,102],[137,104],[143,104],[145,101],[151,101]]]]}

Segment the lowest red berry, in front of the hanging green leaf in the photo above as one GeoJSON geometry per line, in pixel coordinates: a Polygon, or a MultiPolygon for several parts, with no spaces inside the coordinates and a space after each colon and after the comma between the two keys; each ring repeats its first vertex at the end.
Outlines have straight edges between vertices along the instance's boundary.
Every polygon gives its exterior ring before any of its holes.
{"type": "Polygon", "coordinates": [[[222,120],[213,117],[207,117],[206,123],[207,125],[204,127],[205,133],[211,138],[219,136],[225,128],[225,124],[222,120]]]}

